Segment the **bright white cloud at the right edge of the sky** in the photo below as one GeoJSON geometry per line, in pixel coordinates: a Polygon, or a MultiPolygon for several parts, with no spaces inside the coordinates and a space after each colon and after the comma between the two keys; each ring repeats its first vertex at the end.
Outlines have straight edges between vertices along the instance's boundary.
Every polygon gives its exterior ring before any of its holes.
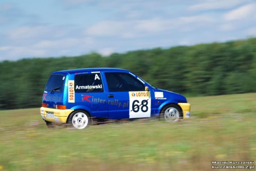
{"type": "Polygon", "coordinates": [[[247,4],[237,9],[234,9],[224,15],[225,20],[237,20],[237,19],[244,19],[247,17],[256,17],[256,4],[247,4]]]}

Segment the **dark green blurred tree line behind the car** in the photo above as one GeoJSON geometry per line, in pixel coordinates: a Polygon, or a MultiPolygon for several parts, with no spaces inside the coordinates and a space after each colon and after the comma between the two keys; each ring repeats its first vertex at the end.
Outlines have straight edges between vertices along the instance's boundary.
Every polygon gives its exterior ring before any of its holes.
{"type": "Polygon", "coordinates": [[[156,88],[189,96],[256,92],[256,38],[169,49],[0,62],[0,109],[37,108],[54,71],[123,68],[156,88]]]}

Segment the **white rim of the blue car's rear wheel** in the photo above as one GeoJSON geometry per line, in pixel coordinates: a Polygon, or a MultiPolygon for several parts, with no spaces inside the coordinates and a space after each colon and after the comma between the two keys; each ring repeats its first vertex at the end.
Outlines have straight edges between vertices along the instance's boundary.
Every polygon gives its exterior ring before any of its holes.
{"type": "Polygon", "coordinates": [[[76,113],[72,118],[72,124],[76,129],[84,129],[88,124],[88,117],[82,112],[76,113]]]}

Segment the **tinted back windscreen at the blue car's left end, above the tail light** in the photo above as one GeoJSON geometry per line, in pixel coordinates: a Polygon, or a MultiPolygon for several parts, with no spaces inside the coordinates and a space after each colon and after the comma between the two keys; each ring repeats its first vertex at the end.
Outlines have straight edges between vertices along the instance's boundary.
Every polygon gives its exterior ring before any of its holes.
{"type": "Polygon", "coordinates": [[[65,75],[53,74],[48,79],[46,84],[46,91],[51,92],[53,89],[57,89],[55,92],[62,92],[64,85],[65,75]]]}

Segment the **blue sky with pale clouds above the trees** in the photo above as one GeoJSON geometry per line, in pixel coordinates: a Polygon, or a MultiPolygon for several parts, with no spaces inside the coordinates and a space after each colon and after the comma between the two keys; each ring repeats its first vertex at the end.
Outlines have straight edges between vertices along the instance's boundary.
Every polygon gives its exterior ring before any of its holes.
{"type": "Polygon", "coordinates": [[[256,36],[255,0],[2,0],[0,61],[256,36]]]}

